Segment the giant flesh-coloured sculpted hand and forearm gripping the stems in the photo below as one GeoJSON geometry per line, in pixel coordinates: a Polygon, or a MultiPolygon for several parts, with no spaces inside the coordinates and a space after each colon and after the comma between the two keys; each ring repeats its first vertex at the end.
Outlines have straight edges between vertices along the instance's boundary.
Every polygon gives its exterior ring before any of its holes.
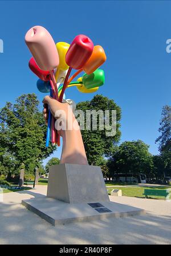
{"type": "Polygon", "coordinates": [[[43,116],[46,120],[46,124],[48,120],[48,108],[52,116],[54,116],[56,120],[60,119],[60,122],[64,124],[58,131],[63,139],[60,164],[88,164],[79,124],[70,105],[68,105],[68,103],[60,103],[50,96],[44,97],[43,103],[43,116]]]}

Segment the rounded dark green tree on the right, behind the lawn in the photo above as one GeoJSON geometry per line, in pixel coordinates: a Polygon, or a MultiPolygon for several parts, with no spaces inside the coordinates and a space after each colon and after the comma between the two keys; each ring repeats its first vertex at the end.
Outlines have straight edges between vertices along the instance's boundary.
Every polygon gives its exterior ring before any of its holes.
{"type": "Polygon", "coordinates": [[[148,175],[153,168],[153,159],[148,148],[141,140],[124,141],[109,159],[110,170],[113,168],[115,173],[124,173],[126,180],[129,173],[148,175]]]}

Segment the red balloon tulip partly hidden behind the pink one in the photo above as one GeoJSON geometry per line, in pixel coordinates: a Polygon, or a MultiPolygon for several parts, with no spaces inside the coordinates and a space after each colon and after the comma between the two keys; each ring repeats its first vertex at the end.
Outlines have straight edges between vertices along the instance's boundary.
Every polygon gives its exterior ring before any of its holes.
{"type": "Polygon", "coordinates": [[[36,74],[41,80],[43,81],[48,81],[49,80],[49,71],[45,71],[39,68],[39,66],[36,64],[35,60],[33,57],[31,57],[29,63],[28,63],[29,68],[33,73],[36,74]]]}

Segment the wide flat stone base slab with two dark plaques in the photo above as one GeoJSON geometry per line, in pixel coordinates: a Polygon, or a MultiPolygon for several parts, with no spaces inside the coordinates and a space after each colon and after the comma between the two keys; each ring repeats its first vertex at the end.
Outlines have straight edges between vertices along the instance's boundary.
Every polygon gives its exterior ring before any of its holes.
{"type": "Polygon", "coordinates": [[[145,211],[114,202],[65,203],[47,196],[22,200],[28,210],[47,220],[51,225],[93,221],[98,219],[119,218],[144,214],[145,211]]]}

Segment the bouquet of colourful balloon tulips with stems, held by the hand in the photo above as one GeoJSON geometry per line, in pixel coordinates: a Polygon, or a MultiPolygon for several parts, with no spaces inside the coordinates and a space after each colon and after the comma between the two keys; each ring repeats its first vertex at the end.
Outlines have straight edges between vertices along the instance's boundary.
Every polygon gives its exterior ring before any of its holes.
{"type": "MultiPolygon", "coordinates": [[[[31,27],[26,33],[25,42],[32,57],[28,66],[39,77],[37,88],[40,92],[50,92],[50,96],[62,102],[66,88],[76,86],[82,93],[96,92],[104,84],[104,71],[98,69],[105,60],[104,49],[93,46],[87,36],[80,34],[71,45],[66,42],[55,44],[51,34],[42,26],[31,27]],[[71,77],[71,70],[78,70],[71,77]],[[79,73],[85,72],[77,81],[72,81],[79,73]]],[[[55,119],[48,112],[46,147],[60,145],[60,137],[55,129],[55,119]]]]}

